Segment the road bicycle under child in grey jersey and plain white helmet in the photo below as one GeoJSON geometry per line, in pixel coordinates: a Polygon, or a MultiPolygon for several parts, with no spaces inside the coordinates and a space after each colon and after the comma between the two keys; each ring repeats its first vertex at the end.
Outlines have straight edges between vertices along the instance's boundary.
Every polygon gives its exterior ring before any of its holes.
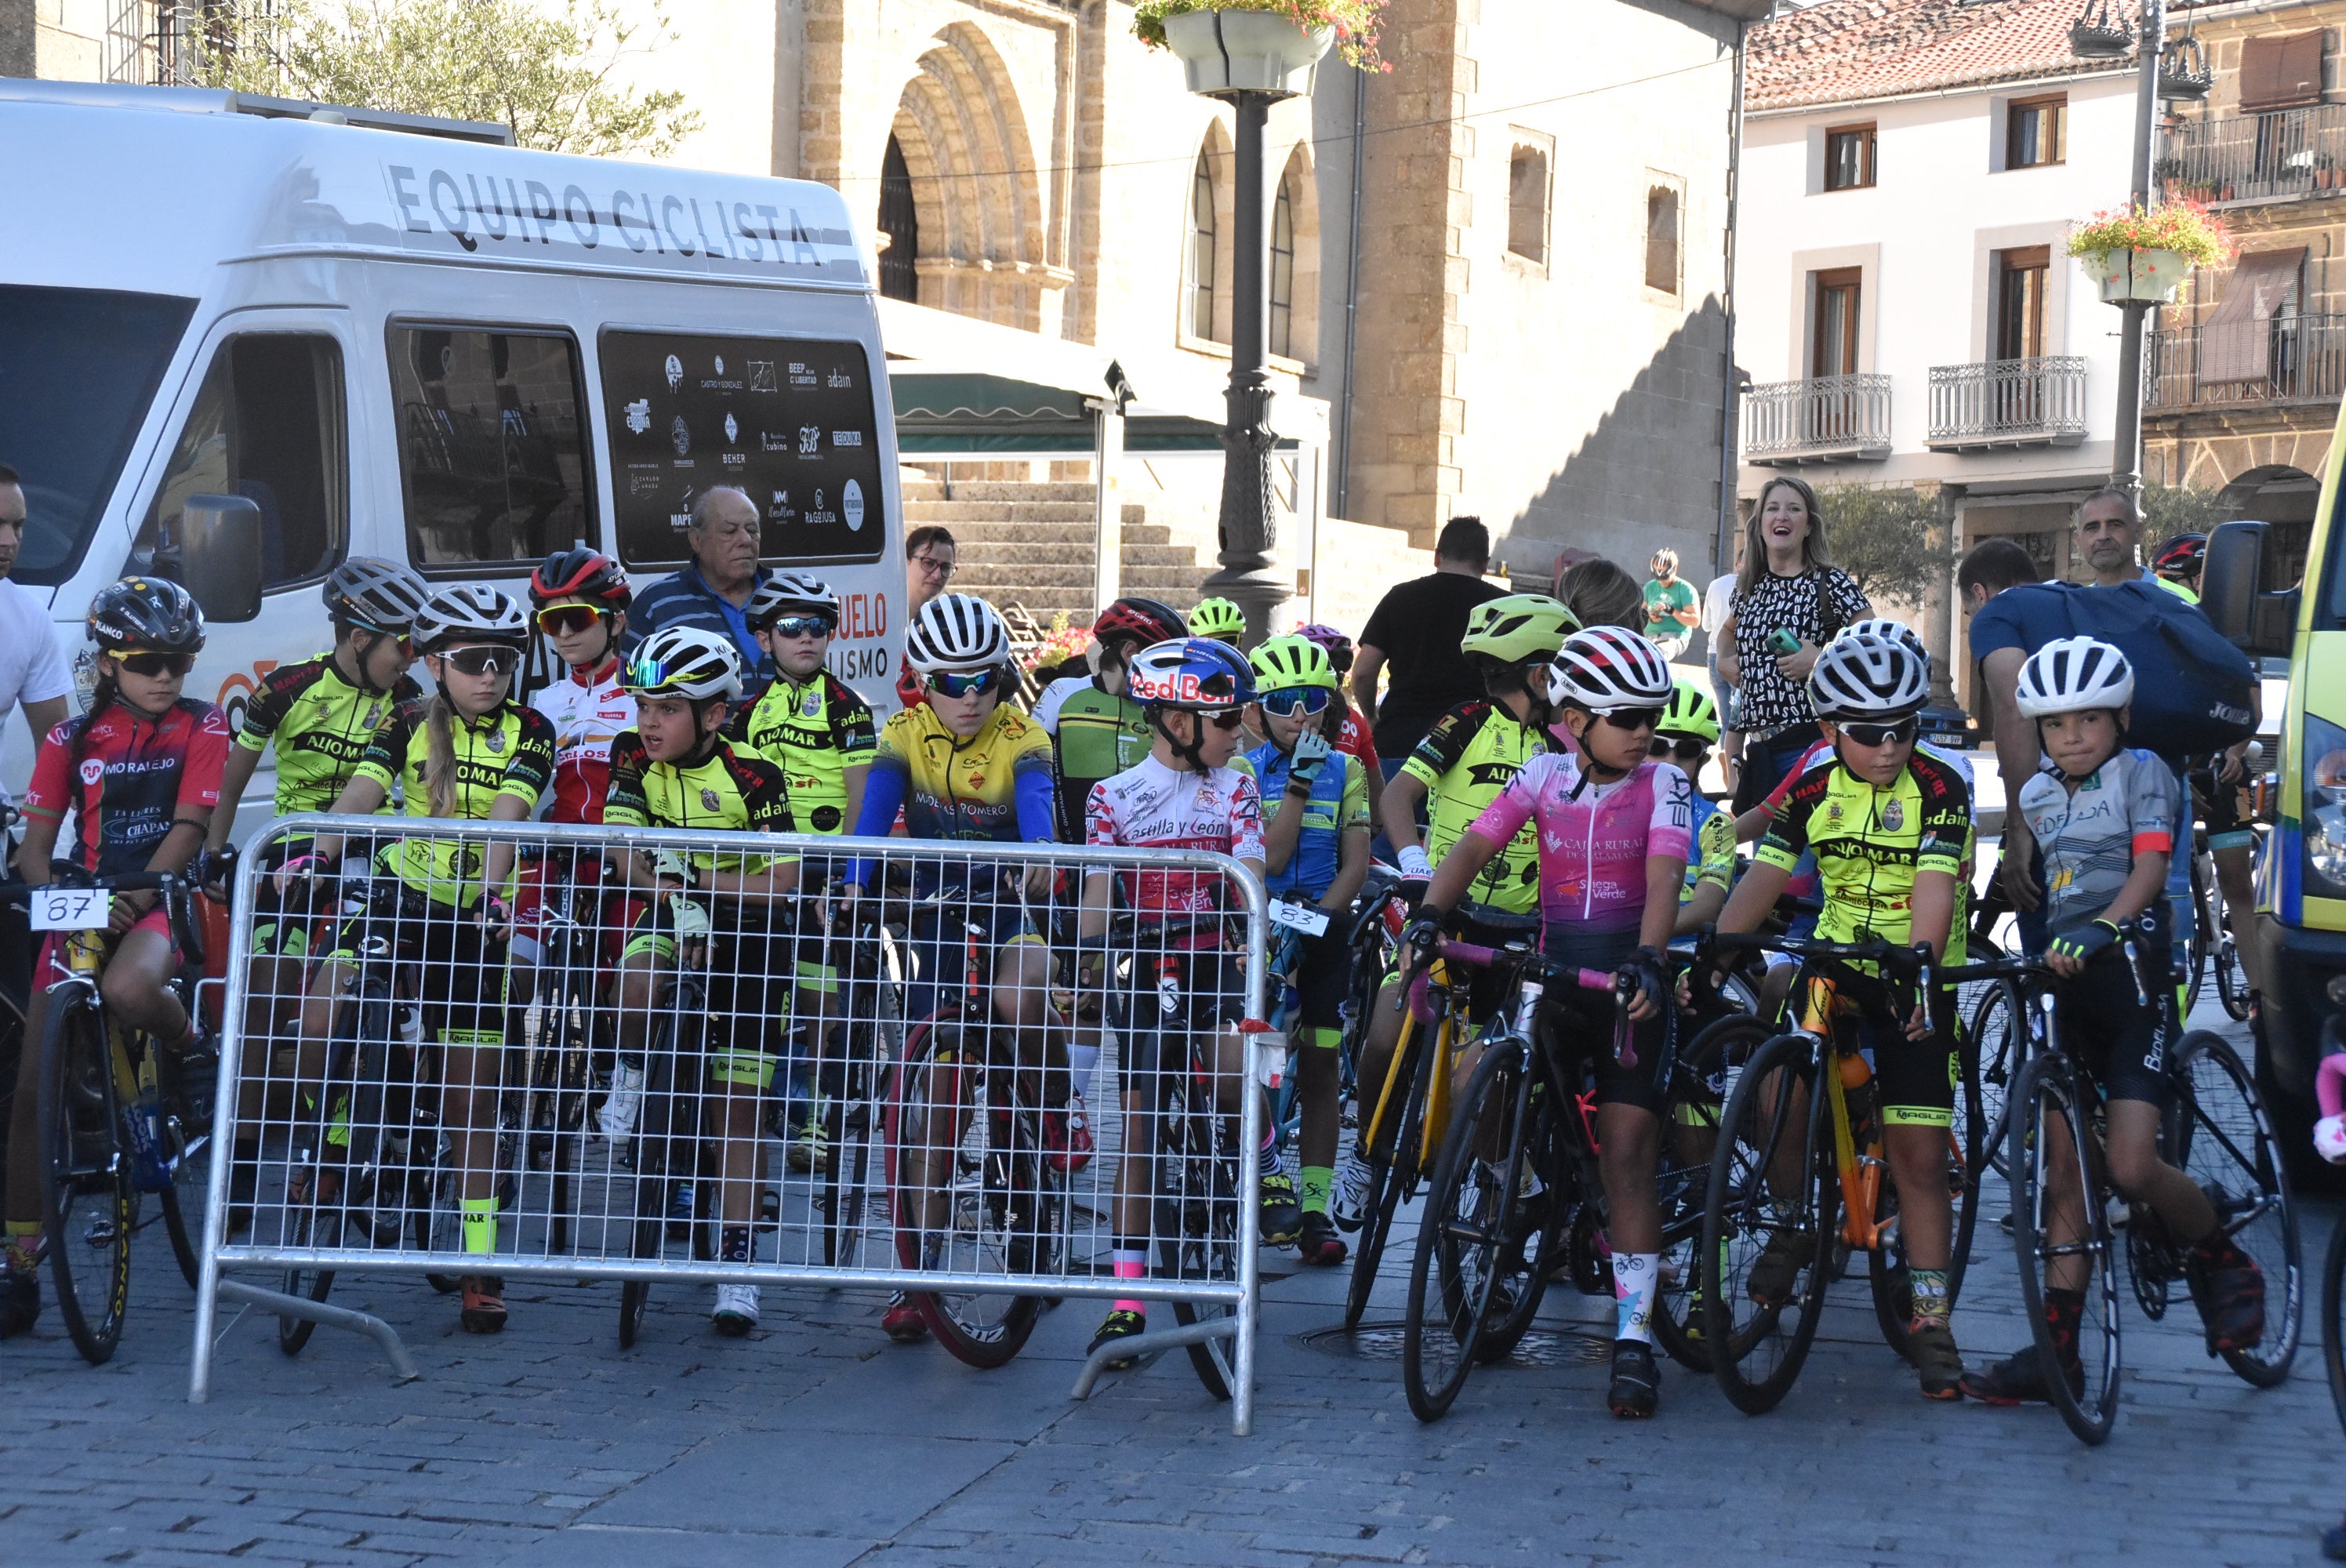
{"type": "MultiPolygon", "coordinates": [[[[2121,953],[2133,972],[2137,1000],[2149,1007],[2156,995],[2151,986],[2163,976],[2144,976],[2133,930],[2125,932],[2121,953]]],[[[2079,1441],[2100,1444],[2118,1415],[2118,1256],[2125,1258],[2135,1303],[2144,1317],[2158,1322],[2168,1312],[2172,1286],[2189,1279],[2189,1249],[2168,1232],[2149,1204],[2125,1204],[2123,1244],[2116,1237],[2111,1225],[2116,1192],[2102,1157],[2104,1091],[2093,1068],[2062,1045],[2050,969],[2036,960],[2008,958],[1947,974],[1971,972],[2013,976],[2027,998],[2032,1047],[2013,1084],[2006,1155],[2020,1300],[2036,1336],[2053,1406],[2079,1441]],[[2060,1185],[2067,1171],[2081,1174],[2083,1185],[2074,1197],[2064,1197],[2060,1185]],[[2064,1230],[2079,1232],[2079,1239],[2050,1237],[2060,1209],[2067,1209],[2064,1230]],[[2093,1270],[2093,1282],[2079,1319],[2079,1378],[2072,1383],[2062,1373],[2043,1300],[2053,1270],[2074,1270],[2079,1261],[2093,1270]]],[[[2186,1033],[2168,1052],[2161,1070],[2172,1101],[2158,1127],[2161,1160],[2208,1192],[2226,1235],[2264,1272],[2264,1338],[2247,1350],[2224,1350],[2224,1364],[2255,1387],[2276,1387],[2297,1357],[2301,1312],[2297,1209],[2290,1202],[2280,1145],[2247,1066],[2222,1035],[2186,1033]]]]}

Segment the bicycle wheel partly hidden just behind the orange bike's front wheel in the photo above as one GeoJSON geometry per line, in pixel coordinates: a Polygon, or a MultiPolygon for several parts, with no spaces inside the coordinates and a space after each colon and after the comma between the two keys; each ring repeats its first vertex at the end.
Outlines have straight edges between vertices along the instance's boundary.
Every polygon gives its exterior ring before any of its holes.
{"type": "Polygon", "coordinates": [[[1654,1343],[1691,1373],[1710,1373],[1703,1324],[1703,1197],[1720,1148],[1729,1073],[1769,1042],[1769,1026],[1748,1014],[1715,1019],[1677,1054],[1661,1115],[1661,1289],[1654,1293],[1654,1343]]]}

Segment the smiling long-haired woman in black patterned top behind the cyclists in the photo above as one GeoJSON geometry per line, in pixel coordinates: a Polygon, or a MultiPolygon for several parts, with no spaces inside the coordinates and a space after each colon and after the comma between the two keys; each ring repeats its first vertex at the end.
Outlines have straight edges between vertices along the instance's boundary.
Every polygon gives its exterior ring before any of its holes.
{"type": "Polygon", "coordinates": [[[1825,519],[1816,491],[1790,474],[1760,488],[1743,523],[1743,568],[1720,631],[1727,653],[1720,676],[1741,688],[1743,772],[1736,810],[1750,810],[1783,782],[1799,753],[1818,739],[1809,711],[1809,669],[1816,655],[1849,622],[1874,608],[1825,554],[1825,519]],[[1778,631],[1795,638],[1776,653],[1778,631]]]}

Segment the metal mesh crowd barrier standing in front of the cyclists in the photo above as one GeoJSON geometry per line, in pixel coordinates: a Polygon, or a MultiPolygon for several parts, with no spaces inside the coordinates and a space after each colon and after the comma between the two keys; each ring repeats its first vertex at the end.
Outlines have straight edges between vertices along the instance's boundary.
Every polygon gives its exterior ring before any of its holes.
{"type": "Polygon", "coordinates": [[[1264,1096],[1246,1084],[1281,1052],[1241,1028],[1262,1016],[1267,915],[1234,859],[312,815],[244,850],[230,932],[213,1145],[237,1157],[211,1164],[190,1399],[221,1303],[274,1317],[289,1354],[317,1324],[371,1333],[408,1378],[396,1331],[338,1305],[335,1279],[493,1275],[610,1282],[619,1343],[655,1331],[655,1289],[920,1291],[978,1364],[1016,1354],[1044,1300],[1171,1303],[1175,1324],[1093,1357],[1074,1397],[1112,1354],[1180,1345],[1250,1427],[1264,1096]],[[333,876],[279,892],[272,864],[352,829],[333,876]],[[624,883],[662,854],[748,866],[762,897],[694,892],[711,930],[678,927],[624,883]],[[429,897],[507,857],[535,962],[429,897]],[[788,892],[760,871],[779,857],[798,857],[788,892]],[[418,890],[434,866],[450,880],[418,890]],[[1135,887],[1227,913],[1140,922],[1135,887]],[[1105,941],[1086,941],[1100,892],[1105,941]],[[1096,1145],[1072,1171],[1044,1115],[1070,1082],[1096,1145]],[[809,1108],[823,1153],[800,1169],[809,1108]],[[230,1237],[237,1164],[253,1204],[230,1237]],[[1145,1277],[1117,1277],[1119,1249],[1145,1277]]]}

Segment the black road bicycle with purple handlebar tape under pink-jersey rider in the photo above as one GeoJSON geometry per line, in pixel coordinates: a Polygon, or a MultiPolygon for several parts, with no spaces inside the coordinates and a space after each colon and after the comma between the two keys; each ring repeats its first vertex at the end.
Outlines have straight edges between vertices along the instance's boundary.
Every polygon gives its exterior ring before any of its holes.
{"type": "MultiPolygon", "coordinates": [[[[1633,972],[1558,965],[1527,944],[1443,941],[1438,951],[1455,969],[1511,976],[1513,998],[1473,1042],[1478,1059],[1450,1108],[1410,1258],[1401,1378],[1410,1411],[1426,1422],[1450,1408],[1478,1364],[1506,1359],[1551,1279],[1569,1277],[1584,1291],[1609,1296],[1588,1059],[1593,1049],[1612,1049],[1621,1066],[1638,1066],[1628,1023],[1638,991],[1633,972]],[[1612,1030],[1595,1028],[1572,1005],[1574,993],[1612,998],[1612,1030]]],[[[1715,1143],[1717,1070],[1708,1061],[1680,1061],[1675,1035],[1673,1007],[1661,1045],[1670,1061],[1647,1070],[1663,1082],[1661,1249],[1684,1270],[1701,1230],[1696,1199],[1715,1143]]],[[[1656,1307],[1656,1338],[1666,1347],[1673,1338],[1682,1345],[1684,1322],[1663,1324],[1663,1317],[1668,1305],[1656,1307]]]]}

